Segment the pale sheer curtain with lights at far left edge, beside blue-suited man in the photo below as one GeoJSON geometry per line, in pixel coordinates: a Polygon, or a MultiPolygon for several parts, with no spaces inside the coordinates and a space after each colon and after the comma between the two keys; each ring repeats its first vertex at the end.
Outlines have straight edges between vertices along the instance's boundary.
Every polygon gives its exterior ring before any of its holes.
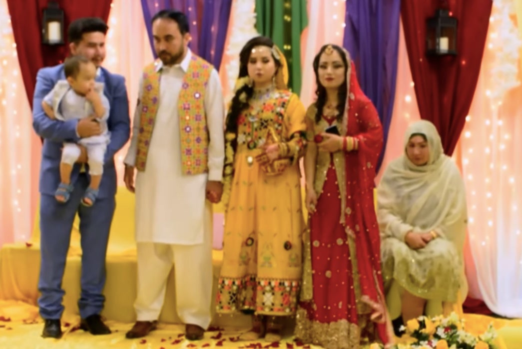
{"type": "Polygon", "coordinates": [[[38,199],[40,139],[23,86],[7,8],[0,1],[0,247],[29,239],[38,199]]]}

